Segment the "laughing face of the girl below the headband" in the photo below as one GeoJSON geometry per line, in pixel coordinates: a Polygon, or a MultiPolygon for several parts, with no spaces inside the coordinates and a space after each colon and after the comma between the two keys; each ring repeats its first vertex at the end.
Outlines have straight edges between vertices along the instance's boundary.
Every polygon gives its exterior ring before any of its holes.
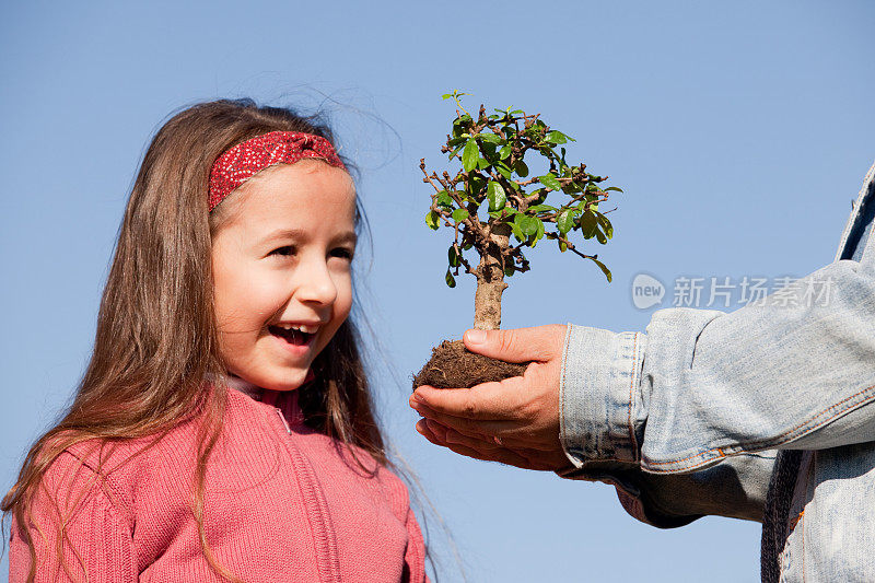
{"type": "Polygon", "coordinates": [[[304,160],[262,171],[229,202],[212,243],[222,357],[257,386],[298,388],[352,305],[352,179],[304,160]]]}

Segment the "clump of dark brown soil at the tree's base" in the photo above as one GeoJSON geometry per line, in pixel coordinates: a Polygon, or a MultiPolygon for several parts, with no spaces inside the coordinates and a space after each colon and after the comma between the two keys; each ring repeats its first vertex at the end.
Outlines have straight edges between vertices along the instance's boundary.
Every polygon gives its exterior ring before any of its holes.
{"type": "Polygon", "coordinates": [[[460,340],[444,340],[433,348],[431,360],[413,377],[413,388],[431,385],[438,388],[470,388],[480,383],[523,376],[528,363],[514,364],[475,354],[460,340]]]}

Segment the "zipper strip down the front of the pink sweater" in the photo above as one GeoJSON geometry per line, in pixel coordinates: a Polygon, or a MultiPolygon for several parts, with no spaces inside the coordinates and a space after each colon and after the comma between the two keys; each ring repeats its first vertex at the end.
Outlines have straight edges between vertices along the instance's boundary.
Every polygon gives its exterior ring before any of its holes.
{"type": "MultiPolygon", "coordinates": [[[[282,410],[275,407],[282,420],[285,433],[292,435],[292,428],[282,415],[282,410]]],[[[288,439],[289,452],[292,457],[292,467],[295,477],[301,486],[301,497],[304,499],[304,508],[310,518],[311,533],[313,534],[313,546],[316,550],[316,567],[319,572],[319,583],[341,583],[340,558],[337,552],[337,540],[335,529],[331,525],[331,516],[328,513],[328,502],[325,500],[325,492],[316,478],[316,473],[310,460],[304,457],[294,443],[293,439],[288,439]]]]}

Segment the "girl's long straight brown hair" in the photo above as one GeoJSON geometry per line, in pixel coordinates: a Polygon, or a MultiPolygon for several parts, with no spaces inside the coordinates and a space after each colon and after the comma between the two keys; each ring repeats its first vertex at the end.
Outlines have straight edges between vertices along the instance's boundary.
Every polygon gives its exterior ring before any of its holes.
{"type": "MultiPolygon", "coordinates": [[[[174,115],[150,143],[133,184],[101,300],[94,350],[75,399],[60,422],[31,447],[19,479],[0,509],[12,513],[31,550],[26,527],[40,480],[65,450],[89,441],[113,444],[161,435],[191,411],[202,413],[195,480],[195,517],[201,547],[223,576],[236,580],[212,557],[203,529],[207,460],[221,431],[222,378],[211,273],[211,240],[221,214],[207,205],[210,168],[229,148],[270,131],[303,131],[334,142],[327,127],[249,100],[221,100],[174,115]]],[[[349,162],[345,160],[349,166],[349,162]]],[[[363,214],[359,207],[359,225],[363,214]]],[[[300,401],[311,427],[362,447],[387,464],[383,436],[350,320],[316,358],[316,381],[300,401]]],[[[60,525],[58,550],[66,536],[60,525]]],[[[67,567],[65,565],[65,570],[67,567]]]]}

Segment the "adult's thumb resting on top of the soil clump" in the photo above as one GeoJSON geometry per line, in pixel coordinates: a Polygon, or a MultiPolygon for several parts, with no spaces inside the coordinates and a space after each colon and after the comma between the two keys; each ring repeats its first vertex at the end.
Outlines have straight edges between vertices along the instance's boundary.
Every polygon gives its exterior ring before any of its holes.
{"type": "Polygon", "coordinates": [[[471,352],[505,362],[546,362],[562,353],[567,327],[558,324],[512,330],[467,330],[463,340],[471,352]]]}

